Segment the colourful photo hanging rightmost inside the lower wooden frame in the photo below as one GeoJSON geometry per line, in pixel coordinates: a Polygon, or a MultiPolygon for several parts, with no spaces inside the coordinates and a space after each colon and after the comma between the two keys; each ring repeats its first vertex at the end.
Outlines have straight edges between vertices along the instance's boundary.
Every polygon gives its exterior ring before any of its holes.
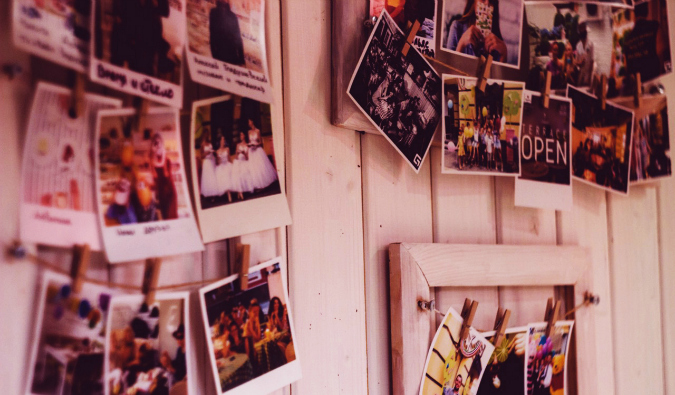
{"type": "Polygon", "coordinates": [[[547,338],[545,322],[528,325],[524,380],[527,395],[567,394],[566,366],[573,327],[574,321],[558,321],[547,338]]]}

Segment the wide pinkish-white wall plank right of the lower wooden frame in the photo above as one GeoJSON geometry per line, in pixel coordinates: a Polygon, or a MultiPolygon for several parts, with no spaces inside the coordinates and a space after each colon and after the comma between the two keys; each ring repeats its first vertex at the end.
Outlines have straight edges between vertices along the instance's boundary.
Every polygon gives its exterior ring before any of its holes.
{"type": "Polygon", "coordinates": [[[607,208],[616,393],[662,394],[656,190],[631,188],[629,197],[609,194],[607,208]],[[649,351],[636,352],[631,344],[649,351]]]}

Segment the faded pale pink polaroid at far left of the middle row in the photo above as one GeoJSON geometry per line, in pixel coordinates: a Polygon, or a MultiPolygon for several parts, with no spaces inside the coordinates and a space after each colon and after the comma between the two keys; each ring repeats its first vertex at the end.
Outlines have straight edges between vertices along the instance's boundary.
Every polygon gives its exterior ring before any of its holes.
{"type": "Polygon", "coordinates": [[[94,127],[98,110],[122,102],[86,94],[84,114],[69,115],[72,91],[38,83],[24,145],[20,232],[26,242],[101,250],[94,194],[94,127]]]}

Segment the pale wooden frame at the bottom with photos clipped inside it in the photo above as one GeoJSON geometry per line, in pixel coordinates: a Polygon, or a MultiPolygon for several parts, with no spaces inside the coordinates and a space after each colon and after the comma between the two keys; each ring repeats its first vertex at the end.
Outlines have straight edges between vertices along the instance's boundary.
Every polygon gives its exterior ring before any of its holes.
{"type": "MultiPolygon", "coordinates": [[[[572,303],[572,306],[584,303],[584,294],[592,292],[591,273],[591,256],[583,247],[390,244],[393,393],[419,393],[436,320],[433,311],[418,307],[418,301],[430,301],[432,288],[573,287],[573,295],[567,301],[569,309],[572,303]]],[[[542,305],[545,304],[542,300],[542,305]]],[[[576,376],[578,391],[571,389],[568,393],[594,395],[598,393],[596,383],[600,379],[595,367],[603,363],[596,350],[602,349],[599,342],[603,339],[595,338],[592,309],[577,310],[575,320],[577,358],[575,361],[570,358],[569,374],[571,378],[576,376]]],[[[574,353],[571,349],[570,354],[574,353]]]]}

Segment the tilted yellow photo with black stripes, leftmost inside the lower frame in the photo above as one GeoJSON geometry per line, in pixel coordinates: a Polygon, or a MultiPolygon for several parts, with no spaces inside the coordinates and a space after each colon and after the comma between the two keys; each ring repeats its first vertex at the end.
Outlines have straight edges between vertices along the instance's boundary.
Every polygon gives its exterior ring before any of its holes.
{"type": "Polygon", "coordinates": [[[438,327],[424,364],[420,395],[476,395],[494,346],[473,327],[464,341],[463,319],[450,308],[438,327]]]}

